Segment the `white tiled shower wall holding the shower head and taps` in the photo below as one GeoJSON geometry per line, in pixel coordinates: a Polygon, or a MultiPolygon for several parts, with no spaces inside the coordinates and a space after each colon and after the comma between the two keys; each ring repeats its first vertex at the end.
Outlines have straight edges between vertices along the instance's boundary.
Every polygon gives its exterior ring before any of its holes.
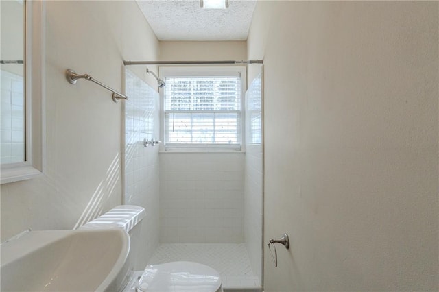
{"type": "Polygon", "coordinates": [[[137,75],[126,70],[125,119],[125,175],[124,204],[142,206],[146,217],[142,222],[142,245],[138,269],[158,247],[158,147],[143,147],[143,139],[158,139],[159,99],[152,89],[137,75]]]}

